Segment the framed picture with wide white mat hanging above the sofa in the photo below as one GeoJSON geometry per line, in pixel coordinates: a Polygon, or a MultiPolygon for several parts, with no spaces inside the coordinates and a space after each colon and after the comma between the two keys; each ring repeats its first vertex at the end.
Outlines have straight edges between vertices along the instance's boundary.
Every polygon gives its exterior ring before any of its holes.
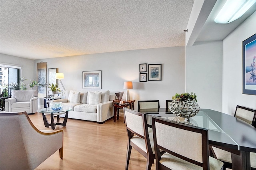
{"type": "Polygon", "coordinates": [[[83,89],[101,89],[101,70],[83,71],[83,89]]]}

